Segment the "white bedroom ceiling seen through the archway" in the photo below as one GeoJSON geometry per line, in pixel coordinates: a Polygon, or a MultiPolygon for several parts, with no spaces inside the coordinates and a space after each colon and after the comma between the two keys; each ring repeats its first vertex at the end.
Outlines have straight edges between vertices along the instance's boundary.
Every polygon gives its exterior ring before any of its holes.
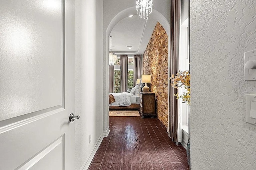
{"type": "Polygon", "coordinates": [[[143,22],[143,18],[140,18],[139,15],[122,19],[114,26],[110,33],[110,36],[112,36],[112,51],[117,55],[143,54],[156,23],[157,21],[150,18],[150,15],[145,22],[143,22]],[[133,47],[128,49],[126,46],[133,47]]]}

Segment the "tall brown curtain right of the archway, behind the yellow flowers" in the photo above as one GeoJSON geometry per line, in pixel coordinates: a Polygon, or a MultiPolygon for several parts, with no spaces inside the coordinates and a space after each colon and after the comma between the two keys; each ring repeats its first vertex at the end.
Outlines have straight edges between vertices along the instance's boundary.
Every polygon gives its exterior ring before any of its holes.
{"type": "MultiPolygon", "coordinates": [[[[180,0],[171,0],[171,25],[170,25],[170,75],[178,72],[179,37],[180,37],[180,0]]],[[[178,101],[173,94],[177,89],[170,86],[169,89],[169,137],[178,144],[182,141],[182,120],[178,114],[178,101]]]]}

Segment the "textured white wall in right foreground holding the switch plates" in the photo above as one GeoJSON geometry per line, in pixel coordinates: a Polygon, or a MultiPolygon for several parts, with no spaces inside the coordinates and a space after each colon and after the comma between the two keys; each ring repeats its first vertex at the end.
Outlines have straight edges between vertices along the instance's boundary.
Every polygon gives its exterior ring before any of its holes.
{"type": "Polygon", "coordinates": [[[191,168],[256,168],[256,126],[245,122],[244,52],[256,49],[255,0],[192,0],[191,168]]]}

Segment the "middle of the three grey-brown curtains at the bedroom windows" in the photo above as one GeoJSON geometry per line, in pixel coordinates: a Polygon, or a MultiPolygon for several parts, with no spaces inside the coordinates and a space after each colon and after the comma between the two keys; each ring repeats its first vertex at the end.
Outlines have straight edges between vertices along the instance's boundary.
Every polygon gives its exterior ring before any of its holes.
{"type": "Polygon", "coordinates": [[[120,56],[121,69],[121,89],[120,92],[126,92],[128,87],[128,55],[120,56]]]}

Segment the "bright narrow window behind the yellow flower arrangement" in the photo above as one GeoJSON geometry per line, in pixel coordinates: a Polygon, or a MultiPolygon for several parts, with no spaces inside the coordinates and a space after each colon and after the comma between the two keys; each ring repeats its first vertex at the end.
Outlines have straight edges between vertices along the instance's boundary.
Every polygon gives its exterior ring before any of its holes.
{"type": "MultiPolygon", "coordinates": [[[[179,70],[189,70],[189,29],[188,18],[180,26],[180,51],[179,51],[179,70]]],[[[178,93],[183,94],[184,88],[179,88],[178,93]]],[[[182,129],[188,133],[188,104],[178,100],[178,111],[182,116],[182,129]]]]}

